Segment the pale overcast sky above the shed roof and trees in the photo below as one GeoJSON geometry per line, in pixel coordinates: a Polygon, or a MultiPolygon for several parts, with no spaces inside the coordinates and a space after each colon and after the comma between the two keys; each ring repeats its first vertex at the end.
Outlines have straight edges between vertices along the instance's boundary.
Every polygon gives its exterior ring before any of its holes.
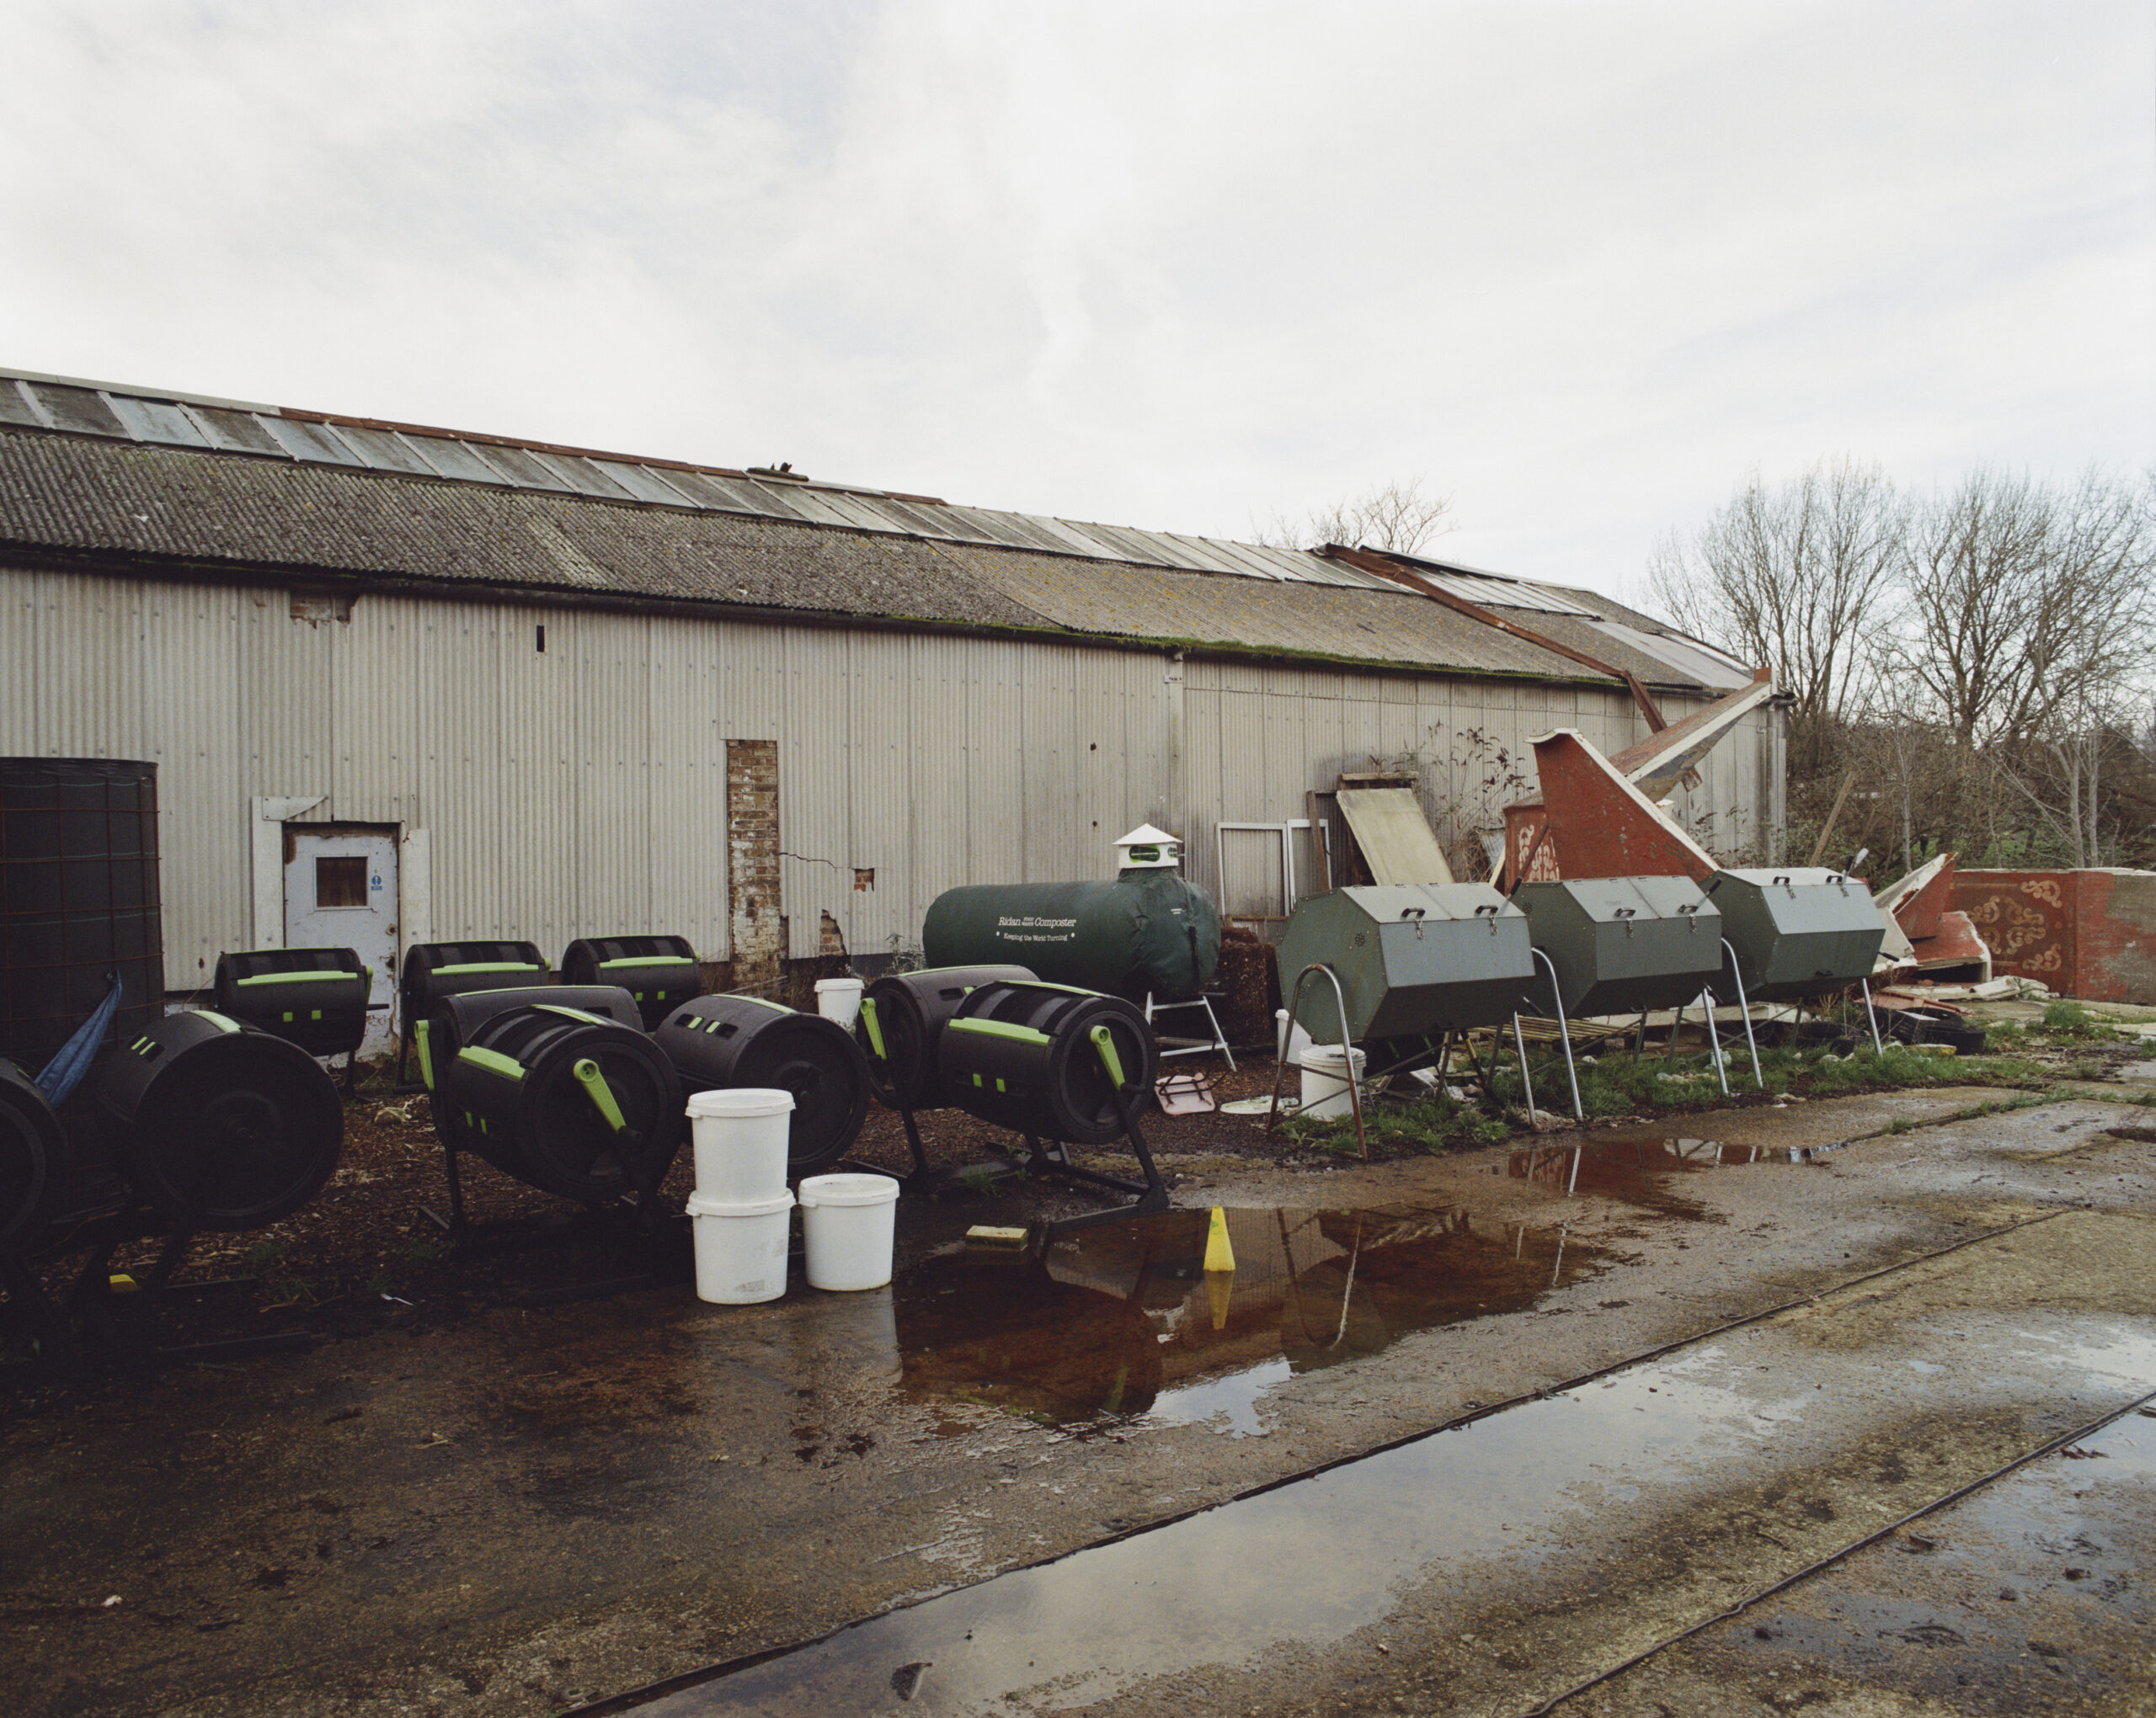
{"type": "Polygon", "coordinates": [[[0,362],[1636,593],[2156,459],[2156,6],[0,6],[0,362]]]}

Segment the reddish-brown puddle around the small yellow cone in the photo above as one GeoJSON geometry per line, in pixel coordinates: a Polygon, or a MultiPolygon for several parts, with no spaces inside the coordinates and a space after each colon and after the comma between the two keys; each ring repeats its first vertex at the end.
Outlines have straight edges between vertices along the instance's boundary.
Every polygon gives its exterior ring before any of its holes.
{"type": "Polygon", "coordinates": [[[1466,1211],[1227,1211],[1233,1274],[1205,1272],[1207,1211],[927,1259],[893,1289],[903,1388],[1056,1425],[1153,1416],[1261,1433],[1253,1403],[1304,1371],[1533,1306],[1600,1270],[1561,1229],[1466,1211]]]}

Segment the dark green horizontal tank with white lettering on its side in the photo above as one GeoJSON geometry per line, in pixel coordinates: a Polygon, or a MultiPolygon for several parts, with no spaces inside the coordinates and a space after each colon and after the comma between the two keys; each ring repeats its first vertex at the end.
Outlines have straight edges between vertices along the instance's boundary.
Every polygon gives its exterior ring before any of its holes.
{"type": "Polygon", "coordinates": [[[1145,1002],[1197,996],[1220,964],[1220,912],[1175,871],[1112,884],[946,888],[921,925],[931,966],[1020,961],[1041,979],[1145,1002]]]}

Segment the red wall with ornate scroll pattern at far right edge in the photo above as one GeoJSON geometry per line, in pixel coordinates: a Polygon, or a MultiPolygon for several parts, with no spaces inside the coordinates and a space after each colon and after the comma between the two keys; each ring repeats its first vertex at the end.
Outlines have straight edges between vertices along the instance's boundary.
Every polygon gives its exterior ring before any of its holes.
{"type": "Polygon", "coordinates": [[[1992,970],[2085,1002],[2156,1002],[2156,871],[1958,871],[1992,970]]]}

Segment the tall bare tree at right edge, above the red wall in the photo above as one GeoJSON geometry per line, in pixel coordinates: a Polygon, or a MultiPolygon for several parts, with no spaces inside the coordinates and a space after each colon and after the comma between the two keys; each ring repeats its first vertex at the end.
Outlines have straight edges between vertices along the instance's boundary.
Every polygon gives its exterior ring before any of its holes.
{"type": "Polygon", "coordinates": [[[1895,666],[1964,752],[2109,703],[2147,675],[2152,645],[2156,517],[2132,485],[1977,470],[1917,513],[1895,666]]]}

